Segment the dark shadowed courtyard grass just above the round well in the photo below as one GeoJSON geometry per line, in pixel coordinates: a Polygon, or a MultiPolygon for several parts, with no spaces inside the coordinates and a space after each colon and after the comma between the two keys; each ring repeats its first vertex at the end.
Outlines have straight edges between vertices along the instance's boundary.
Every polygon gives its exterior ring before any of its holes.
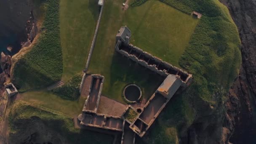
{"type": "Polygon", "coordinates": [[[163,82],[164,77],[142,67],[130,59],[116,53],[112,57],[110,85],[135,83],[141,87],[145,98],[149,98],[163,82]]]}

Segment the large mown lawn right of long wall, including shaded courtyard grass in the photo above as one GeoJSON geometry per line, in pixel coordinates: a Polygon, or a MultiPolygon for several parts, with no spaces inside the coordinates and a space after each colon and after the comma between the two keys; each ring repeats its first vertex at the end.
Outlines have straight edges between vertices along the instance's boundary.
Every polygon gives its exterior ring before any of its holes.
{"type": "Polygon", "coordinates": [[[144,97],[149,98],[163,78],[115,53],[118,29],[127,25],[132,31],[132,44],[179,66],[179,58],[198,20],[156,0],[129,7],[127,11],[122,10],[122,2],[105,2],[89,72],[104,75],[103,94],[108,97],[123,101],[123,87],[136,83],[141,86],[144,97]]]}

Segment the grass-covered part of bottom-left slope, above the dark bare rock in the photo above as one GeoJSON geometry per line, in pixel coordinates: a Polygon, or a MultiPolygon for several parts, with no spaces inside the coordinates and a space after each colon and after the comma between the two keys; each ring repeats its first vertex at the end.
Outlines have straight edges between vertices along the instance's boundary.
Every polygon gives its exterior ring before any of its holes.
{"type": "Polygon", "coordinates": [[[24,132],[33,130],[37,132],[36,129],[33,129],[33,125],[40,121],[45,126],[47,125],[46,129],[57,133],[53,137],[57,136],[62,140],[67,139],[70,144],[111,144],[113,141],[113,138],[106,134],[76,129],[73,120],[65,115],[48,112],[21,101],[14,103],[9,114],[10,140],[16,143],[24,135],[24,132]],[[28,130],[30,127],[32,128],[28,130]]]}

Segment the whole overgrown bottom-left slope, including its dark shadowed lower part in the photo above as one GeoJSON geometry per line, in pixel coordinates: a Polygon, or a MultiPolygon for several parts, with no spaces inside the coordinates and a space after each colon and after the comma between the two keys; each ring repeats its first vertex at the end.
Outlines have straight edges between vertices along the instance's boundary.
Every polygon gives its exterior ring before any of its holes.
{"type": "Polygon", "coordinates": [[[16,101],[11,107],[9,124],[12,144],[18,141],[25,142],[34,133],[35,139],[32,141],[37,143],[112,144],[114,140],[107,134],[75,128],[71,117],[46,111],[22,101],[16,101]]]}

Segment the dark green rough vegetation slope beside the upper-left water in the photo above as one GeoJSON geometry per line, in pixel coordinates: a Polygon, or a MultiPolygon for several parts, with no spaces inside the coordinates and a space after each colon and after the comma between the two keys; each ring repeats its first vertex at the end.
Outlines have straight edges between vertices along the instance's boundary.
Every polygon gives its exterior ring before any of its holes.
{"type": "Polygon", "coordinates": [[[59,0],[45,0],[42,32],[31,51],[13,67],[12,82],[19,91],[40,88],[60,80],[62,55],[59,35],[59,0]]]}

